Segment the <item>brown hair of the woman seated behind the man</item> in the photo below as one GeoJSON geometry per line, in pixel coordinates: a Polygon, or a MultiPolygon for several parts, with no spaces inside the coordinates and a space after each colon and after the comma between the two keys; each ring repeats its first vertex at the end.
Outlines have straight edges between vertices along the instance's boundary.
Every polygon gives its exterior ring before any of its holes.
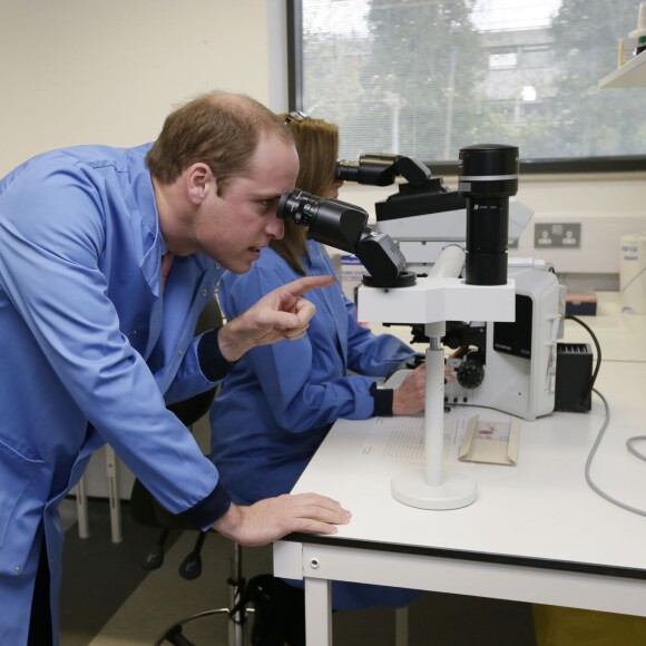
{"type": "MultiPolygon", "coordinates": [[[[302,114],[278,115],[296,143],[301,168],[296,188],[323,195],[334,183],[339,156],[339,126],[302,114]]],[[[300,275],[305,275],[302,257],[307,253],[307,228],[285,221],[285,235],[270,246],[300,275]]]]}

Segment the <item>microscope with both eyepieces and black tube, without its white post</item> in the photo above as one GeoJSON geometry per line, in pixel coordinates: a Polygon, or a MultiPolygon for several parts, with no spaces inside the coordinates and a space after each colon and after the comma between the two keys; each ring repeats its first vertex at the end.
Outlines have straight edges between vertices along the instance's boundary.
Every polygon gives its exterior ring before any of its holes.
{"type": "Polygon", "coordinates": [[[362,321],[411,325],[413,340],[460,350],[450,359],[458,380],[446,384],[446,403],[532,420],[555,405],[565,290],[545,263],[507,255],[534,214],[509,202],[517,166],[515,147],[463,148],[459,190],[451,190],[414,159],[365,155],[340,161],[339,177],[376,186],[397,175],[408,180],[376,203],[375,231],[363,209],[298,190],[284,196],[278,212],[362,261],[369,274],[356,294],[362,321]],[[466,262],[438,271],[452,246],[466,251],[466,262]]]}

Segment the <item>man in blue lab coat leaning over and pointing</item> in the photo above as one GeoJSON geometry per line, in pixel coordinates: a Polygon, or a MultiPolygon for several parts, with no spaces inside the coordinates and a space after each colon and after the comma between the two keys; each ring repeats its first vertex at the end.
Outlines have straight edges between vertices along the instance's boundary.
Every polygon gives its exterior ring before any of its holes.
{"type": "Polygon", "coordinates": [[[301,296],[331,277],[193,337],[222,272],[283,235],[277,200],[297,172],[277,117],[214,92],[153,146],[55,150],[0,180],[0,644],[58,643],[58,505],[105,442],[169,511],[243,545],[348,522],[315,495],[233,505],[166,409],[251,348],[305,333],[301,296]]]}

